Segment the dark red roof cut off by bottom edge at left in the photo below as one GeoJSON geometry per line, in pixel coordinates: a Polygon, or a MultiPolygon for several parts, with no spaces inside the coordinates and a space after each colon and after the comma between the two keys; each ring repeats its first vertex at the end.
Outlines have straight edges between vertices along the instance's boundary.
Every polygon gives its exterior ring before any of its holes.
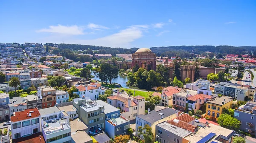
{"type": "Polygon", "coordinates": [[[13,139],[12,143],[46,143],[46,142],[44,140],[42,132],[38,132],[27,137],[20,137],[17,139],[13,139]]]}

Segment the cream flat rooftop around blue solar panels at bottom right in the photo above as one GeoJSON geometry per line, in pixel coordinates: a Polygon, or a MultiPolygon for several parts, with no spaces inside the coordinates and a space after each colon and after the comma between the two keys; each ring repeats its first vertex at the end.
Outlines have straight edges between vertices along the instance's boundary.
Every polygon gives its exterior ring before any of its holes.
{"type": "Polygon", "coordinates": [[[221,126],[217,126],[210,123],[209,127],[205,127],[205,128],[200,127],[196,132],[196,134],[191,134],[185,137],[185,139],[191,141],[191,143],[197,143],[199,140],[201,140],[203,137],[207,136],[210,133],[215,133],[216,135],[213,138],[210,138],[210,140],[208,141],[209,143],[210,141],[215,141],[214,139],[219,137],[224,138],[225,140],[228,140],[228,138],[232,137],[233,134],[235,134],[235,132],[232,130],[225,129],[221,126]]]}

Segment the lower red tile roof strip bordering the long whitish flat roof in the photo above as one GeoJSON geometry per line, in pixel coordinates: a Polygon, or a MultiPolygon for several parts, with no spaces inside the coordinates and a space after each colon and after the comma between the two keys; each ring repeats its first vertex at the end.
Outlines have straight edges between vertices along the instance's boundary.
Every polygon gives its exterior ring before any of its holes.
{"type": "Polygon", "coordinates": [[[185,129],[189,132],[195,132],[195,128],[196,126],[194,125],[191,125],[189,123],[186,123],[186,122],[183,122],[181,120],[177,120],[177,119],[172,119],[172,120],[168,120],[166,121],[167,123],[171,124],[171,125],[174,125],[174,126],[177,126],[179,128],[182,128],[182,129],[185,129]],[[177,122],[176,122],[177,121],[177,122]]]}

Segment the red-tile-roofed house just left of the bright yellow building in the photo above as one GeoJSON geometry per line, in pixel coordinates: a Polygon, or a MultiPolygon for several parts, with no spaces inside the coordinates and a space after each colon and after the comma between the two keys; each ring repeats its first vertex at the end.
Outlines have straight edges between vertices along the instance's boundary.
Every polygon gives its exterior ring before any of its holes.
{"type": "Polygon", "coordinates": [[[186,99],[186,103],[188,103],[188,110],[191,111],[192,109],[194,109],[194,112],[196,112],[196,110],[199,110],[201,108],[204,102],[210,99],[212,99],[212,95],[195,94],[189,96],[186,99]]]}

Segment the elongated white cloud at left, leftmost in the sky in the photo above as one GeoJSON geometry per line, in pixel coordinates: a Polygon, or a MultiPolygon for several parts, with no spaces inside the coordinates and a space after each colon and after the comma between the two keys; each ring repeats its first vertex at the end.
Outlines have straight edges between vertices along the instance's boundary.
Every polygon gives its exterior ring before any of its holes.
{"type": "Polygon", "coordinates": [[[57,34],[67,34],[67,35],[82,35],[84,34],[84,28],[81,26],[62,26],[58,24],[58,26],[49,26],[48,29],[40,29],[36,32],[47,32],[47,33],[57,33],[57,34]]]}

